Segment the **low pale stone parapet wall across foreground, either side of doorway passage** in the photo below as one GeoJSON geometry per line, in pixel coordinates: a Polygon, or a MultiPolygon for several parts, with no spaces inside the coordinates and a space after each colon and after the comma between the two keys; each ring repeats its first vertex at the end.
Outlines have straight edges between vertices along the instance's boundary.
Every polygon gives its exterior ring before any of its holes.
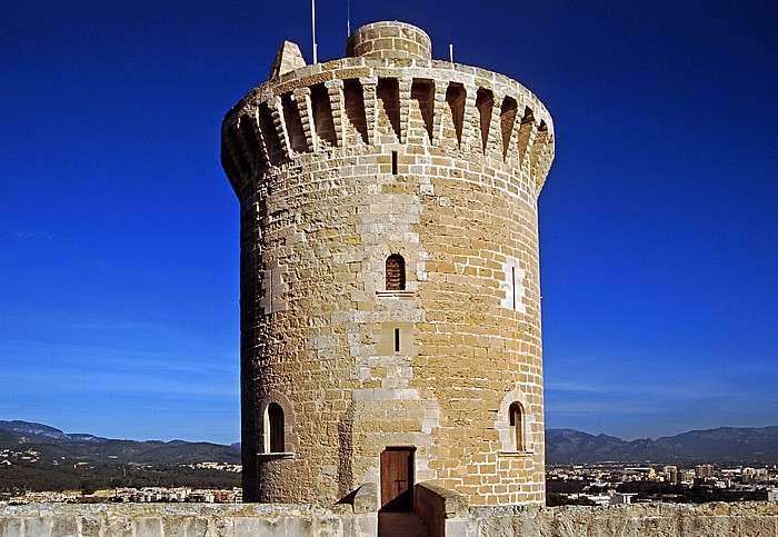
{"type": "MultiPolygon", "coordinates": [[[[449,513],[448,537],[778,536],[778,504],[648,504],[621,507],[476,507],[449,513]]],[[[0,536],[308,537],[377,535],[371,514],[292,505],[0,504],[0,536]]]]}

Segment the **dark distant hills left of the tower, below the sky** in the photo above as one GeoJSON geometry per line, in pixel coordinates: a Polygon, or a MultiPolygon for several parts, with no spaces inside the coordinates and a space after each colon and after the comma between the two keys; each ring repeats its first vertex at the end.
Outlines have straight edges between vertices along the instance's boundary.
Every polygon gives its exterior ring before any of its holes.
{"type": "Polygon", "coordinates": [[[0,451],[32,450],[40,460],[59,464],[193,465],[240,464],[240,450],[209,442],[111,440],[93,435],[68,435],[47,425],[0,420],[0,451]]]}

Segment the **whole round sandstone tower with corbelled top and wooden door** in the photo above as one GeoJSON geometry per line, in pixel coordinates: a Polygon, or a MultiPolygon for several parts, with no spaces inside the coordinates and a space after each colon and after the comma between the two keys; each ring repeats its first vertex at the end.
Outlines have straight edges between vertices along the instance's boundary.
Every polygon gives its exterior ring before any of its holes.
{"type": "Polygon", "coordinates": [[[419,481],[542,504],[537,199],[543,105],[376,22],[347,58],[285,42],[226,116],[240,200],[247,501],[331,505],[419,481]]]}

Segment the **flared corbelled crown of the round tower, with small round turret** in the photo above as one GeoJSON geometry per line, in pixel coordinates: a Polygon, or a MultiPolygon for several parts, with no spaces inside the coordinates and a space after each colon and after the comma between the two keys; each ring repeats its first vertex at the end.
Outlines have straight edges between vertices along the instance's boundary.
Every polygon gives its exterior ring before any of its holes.
{"type": "Polygon", "coordinates": [[[423,59],[429,38],[402,22],[362,27],[347,50],[361,56],[282,72],[227,113],[222,163],[236,192],[305,153],[413,146],[482,157],[539,195],[553,160],[553,122],[527,88],[485,69],[423,59]]]}

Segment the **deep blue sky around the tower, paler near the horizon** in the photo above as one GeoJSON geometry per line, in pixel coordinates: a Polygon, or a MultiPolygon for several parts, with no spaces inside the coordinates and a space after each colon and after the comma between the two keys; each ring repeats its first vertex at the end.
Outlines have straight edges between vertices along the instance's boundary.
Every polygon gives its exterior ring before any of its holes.
{"type": "MultiPolygon", "coordinates": [[[[0,419],[239,439],[225,112],[310,3],[7,0],[0,419]]],[[[319,59],[346,1],[317,2],[319,59]]],[[[547,105],[547,427],[778,425],[778,2],[351,1],[547,105]]]]}

